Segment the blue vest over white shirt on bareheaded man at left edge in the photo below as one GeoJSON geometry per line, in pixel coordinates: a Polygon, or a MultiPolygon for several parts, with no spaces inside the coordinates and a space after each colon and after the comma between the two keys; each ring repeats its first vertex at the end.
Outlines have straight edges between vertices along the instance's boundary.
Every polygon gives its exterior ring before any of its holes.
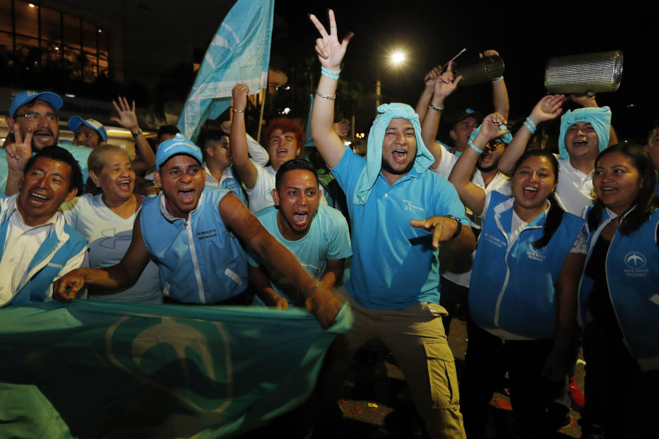
{"type": "MultiPolygon", "coordinates": [[[[8,210],[5,211],[0,219],[0,250],[5,248],[5,239],[7,239],[7,230],[9,228],[8,212],[8,210]]],[[[18,214],[16,212],[16,215],[18,214]]],[[[16,292],[16,296],[14,296],[8,305],[43,302],[47,298],[46,293],[53,283],[54,278],[60,274],[60,271],[67,264],[69,258],[80,254],[84,250],[87,245],[84,237],[65,223],[63,224],[63,230],[57,230],[58,224],[59,222],[56,222],[53,230],[48,234],[41,247],[39,247],[39,250],[34,254],[32,261],[30,261],[27,272],[34,272],[34,275],[30,276],[27,283],[23,285],[19,292],[16,292]]]]}

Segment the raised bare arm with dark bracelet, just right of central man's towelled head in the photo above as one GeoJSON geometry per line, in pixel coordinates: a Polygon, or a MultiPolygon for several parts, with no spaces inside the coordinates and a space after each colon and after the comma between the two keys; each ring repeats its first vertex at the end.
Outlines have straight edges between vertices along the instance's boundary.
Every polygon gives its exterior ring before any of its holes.
{"type": "Polygon", "coordinates": [[[448,63],[446,71],[435,80],[432,99],[430,99],[430,105],[435,108],[430,108],[430,111],[424,117],[423,123],[421,123],[421,139],[423,139],[424,145],[426,145],[430,154],[435,158],[435,163],[430,165],[432,169],[439,165],[443,154],[443,147],[435,142],[435,139],[437,138],[441,113],[444,110],[444,101],[455,91],[461,80],[462,76],[454,78],[452,61],[448,63]]]}

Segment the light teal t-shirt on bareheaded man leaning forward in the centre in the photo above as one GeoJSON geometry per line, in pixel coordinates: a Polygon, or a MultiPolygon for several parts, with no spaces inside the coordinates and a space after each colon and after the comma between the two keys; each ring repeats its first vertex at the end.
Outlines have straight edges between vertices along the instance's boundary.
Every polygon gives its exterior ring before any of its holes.
{"type": "MultiPolygon", "coordinates": [[[[277,226],[277,211],[275,206],[266,207],[259,211],[256,217],[270,235],[288,248],[302,268],[313,278],[319,279],[323,276],[325,268],[327,268],[327,261],[337,261],[352,254],[348,223],[336,209],[320,204],[308,233],[297,241],[288,241],[281,235],[277,226]]],[[[247,261],[253,267],[262,265],[266,269],[273,281],[271,283],[273,289],[279,296],[288,300],[289,306],[302,305],[301,302],[291,300],[295,297],[293,285],[281,283],[283,276],[270,263],[263,261],[253,252],[247,252],[247,261]]],[[[255,305],[264,306],[265,304],[256,296],[255,305]]]]}

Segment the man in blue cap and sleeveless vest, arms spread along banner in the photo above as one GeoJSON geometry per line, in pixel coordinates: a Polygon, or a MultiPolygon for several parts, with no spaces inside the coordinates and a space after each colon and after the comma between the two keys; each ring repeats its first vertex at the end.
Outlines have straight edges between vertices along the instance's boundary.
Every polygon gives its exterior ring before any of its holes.
{"type": "Polygon", "coordinates": [[[156,169],[154,181],[162,191],[143,201],[124,259],[109,268],[73,270],[56,282],[55,298],[69,300],[85,284],[130,287],[154,259],[163,294],[172,301],[246,305],[247,262],[240,238],[306,294],[305,305],[323,327],[334,321],[338,298],[306,274],[231,191],[205,188],[201,151],[194,143],[181,134],[161,143],[156,169]]]}

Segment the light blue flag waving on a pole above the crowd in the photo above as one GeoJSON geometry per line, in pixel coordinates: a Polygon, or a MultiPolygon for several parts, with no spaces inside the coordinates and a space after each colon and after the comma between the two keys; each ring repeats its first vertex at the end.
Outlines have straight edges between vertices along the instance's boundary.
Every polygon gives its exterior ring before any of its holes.
{"type": "Polygon", "coordinates": [[[268,82],[275,0],[238,0],[220,25],[187,97],[178,129],[195,141],[207,119],[231,106],[231,90],[245,84],[251,94],[268,82]]]}

